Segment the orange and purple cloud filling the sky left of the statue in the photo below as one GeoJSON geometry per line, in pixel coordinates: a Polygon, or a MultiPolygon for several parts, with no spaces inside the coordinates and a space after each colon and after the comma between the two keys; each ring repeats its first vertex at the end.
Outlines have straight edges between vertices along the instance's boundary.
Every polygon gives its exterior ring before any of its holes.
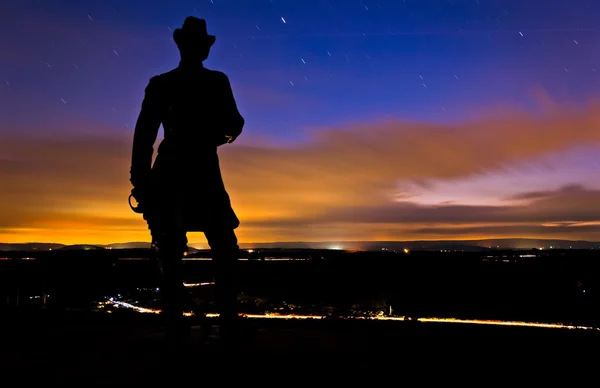
{"type": "Polygon", "coordinates": [[[126,139],[52,129],[37,136],[21,128],[2,128],[2,133],[8,135],[0,143],[0,226],[44,220],[51,227],[81,213],[126,210],[127,205],[116,206],[117,198],[127,197],[131,148],[126,139]]]}

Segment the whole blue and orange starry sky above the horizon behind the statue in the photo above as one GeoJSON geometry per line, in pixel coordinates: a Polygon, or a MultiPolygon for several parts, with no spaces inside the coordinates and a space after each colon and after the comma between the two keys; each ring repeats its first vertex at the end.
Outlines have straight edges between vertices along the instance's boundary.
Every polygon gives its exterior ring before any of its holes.
{"type": "Polygon", "coordinates": [[[563,198],[600,190],[597,1],[9,3],[1,240],[147,239],[123,198],[133,126],[188,15],[217,36],[206,66],[228,74],[247,122],[223,152],[243,239],[598,233],[563,198]],[[530,192],[572,208],[543,217],[541,197],[511,199],[530,192]]]}

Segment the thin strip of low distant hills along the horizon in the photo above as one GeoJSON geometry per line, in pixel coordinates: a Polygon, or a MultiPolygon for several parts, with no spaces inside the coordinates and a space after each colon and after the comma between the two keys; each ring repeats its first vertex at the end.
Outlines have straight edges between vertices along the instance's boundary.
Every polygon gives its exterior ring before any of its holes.
{"type": "MultiPolygon", "coordinates": [[[[440,241],[329,241],[329,242],[272,242],[240,244],[243,249],[343,249],[380,251],[382,249],[397,250],[454,250],[482,251],[494,249],[600,249],[600,242],[543,240],[543,239],[489,239],[489,240],[440,240],[440,241]]],[[[78,244],[65,245],[55,243],[0,243],[0,251],[37,251],[37,250],[90,250],[90,249],[148,249],[149,242],[124,242],[108,245],[78,244]]],[[[198,249],[190,246],[190,253],[198,249]]]]}

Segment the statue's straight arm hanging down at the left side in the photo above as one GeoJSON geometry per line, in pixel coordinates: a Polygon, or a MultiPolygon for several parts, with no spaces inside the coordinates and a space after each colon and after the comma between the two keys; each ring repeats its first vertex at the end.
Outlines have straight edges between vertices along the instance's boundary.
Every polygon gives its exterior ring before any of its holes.
{"type": "Polygon", "coordinates": [[[135,124],[130,170],[130,181],[134,187],[144,185],[152,169],[153,147],[161,124],[158,83],[158,77],[153,77],[148,82],[142,110],[135,124]]]}

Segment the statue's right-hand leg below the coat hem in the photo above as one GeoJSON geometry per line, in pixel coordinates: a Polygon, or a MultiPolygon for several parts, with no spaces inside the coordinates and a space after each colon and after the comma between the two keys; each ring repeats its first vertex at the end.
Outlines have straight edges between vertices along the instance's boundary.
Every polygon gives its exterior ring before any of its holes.
{"type": "Polygon", "coordinates": [[[239,247],[233,229],[204,232],[211,249],[221,326],[233,324],[238,316],[239,247]]]}

